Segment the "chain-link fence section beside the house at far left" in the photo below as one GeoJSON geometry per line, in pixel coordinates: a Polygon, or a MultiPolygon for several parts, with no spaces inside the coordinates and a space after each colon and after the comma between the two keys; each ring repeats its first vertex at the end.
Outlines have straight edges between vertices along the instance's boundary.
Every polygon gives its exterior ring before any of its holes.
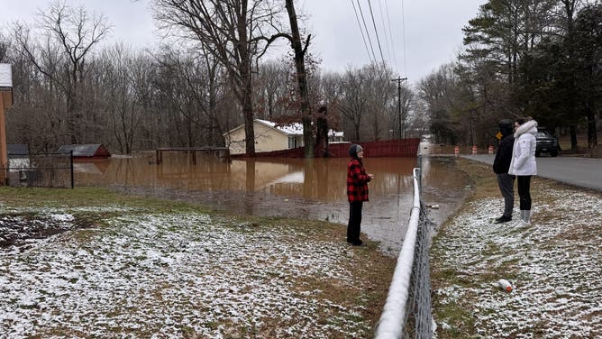
{"type": "Polygon", "coordinates": [[[73,152],[10,154],[7,168],[0,168],[12,187],[73,188],[73,152]]]}

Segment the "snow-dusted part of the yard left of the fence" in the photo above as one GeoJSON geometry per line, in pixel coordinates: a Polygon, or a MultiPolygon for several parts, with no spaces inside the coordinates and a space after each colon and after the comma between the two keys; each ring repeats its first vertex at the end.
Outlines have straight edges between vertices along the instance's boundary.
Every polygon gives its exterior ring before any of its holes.
{"type": "Polygon", "coordinates": [[[371,332],[361,303],[346,307],[316,288],[315,281],[371,288],[343,264],[354,256],[345,243],[300,242],[303,234],[284,227],[201,214],[123,214],[105,222],[25,250],[0,249],[0,338],[371,332]]]}

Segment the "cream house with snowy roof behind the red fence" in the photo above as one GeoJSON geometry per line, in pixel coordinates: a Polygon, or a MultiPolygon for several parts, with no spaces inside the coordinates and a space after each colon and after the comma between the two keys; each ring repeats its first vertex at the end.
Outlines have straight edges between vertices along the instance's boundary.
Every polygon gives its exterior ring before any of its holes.
{"type": "MultiPolygon", "coordinates": [[[[304,146],[302,124],[287,124],[277,127],[276,123],[254,119],[253,129],[256,152],[279,151],[304,146]]],[[[225,139],[226,146],[230,149],[230,154],[243,154],[246,151],[245,135],[244,124],[223,133],[223,138],[225,139]]],[[[329,142],[342,142],[342,138],[342,132],[333,130],[328,132],[329,142]]]]}

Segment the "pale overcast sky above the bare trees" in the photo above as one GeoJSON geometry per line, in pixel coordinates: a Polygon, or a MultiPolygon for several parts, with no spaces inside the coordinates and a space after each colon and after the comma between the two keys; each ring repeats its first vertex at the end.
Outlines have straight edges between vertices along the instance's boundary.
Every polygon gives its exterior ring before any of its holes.
{"type": "MultiPolygon", "coordinates": [[[[65,1],[69,5],[84,4],[91,13],[105,14],[114,26],[111,41],[123,41],[136,48],[157,43],[156,28],[148,6],[150,0],[65,1]]],[[[479,5],[486,2],[297,0],[296,8],[297,12],[308,16],[302,25],[314,36],[313,48],[321,58],[324,70],[343,71],[349,66],[360,67],[369,62],[371,50],[374,50],[377,60],[384,59],[397,75],[415,83],[442,63],[455,59],[461,50],[462,26],[476,16],[479,5]],[[360,9],[368,25],[371,47],[369,43],[364,44],[362,39],[355,14],[358,13],[362,22],[360,9]],[[374,33],[375,24],[379,32],[380,49],[374,33]]],[[[2,1],[0,24],[15,20],[32,23],[38,9],[47,8],[49,3],[49,0],[2,1]]],[[[363,23],[361,27],[363,29],[363,23]]]]}

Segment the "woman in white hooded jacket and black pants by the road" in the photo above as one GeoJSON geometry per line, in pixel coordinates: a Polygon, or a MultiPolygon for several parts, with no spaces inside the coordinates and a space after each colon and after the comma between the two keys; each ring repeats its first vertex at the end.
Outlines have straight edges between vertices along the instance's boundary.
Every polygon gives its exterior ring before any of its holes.
{"type": "Polygon", "coordinates": [[[515,146],[512,149],[508,174],[516,176],[521,219],[526,224],[531,222],[531,177],[537,174],[535,135],[537,135],[536,121],[531,118],[515,120],[515,146]]]}

